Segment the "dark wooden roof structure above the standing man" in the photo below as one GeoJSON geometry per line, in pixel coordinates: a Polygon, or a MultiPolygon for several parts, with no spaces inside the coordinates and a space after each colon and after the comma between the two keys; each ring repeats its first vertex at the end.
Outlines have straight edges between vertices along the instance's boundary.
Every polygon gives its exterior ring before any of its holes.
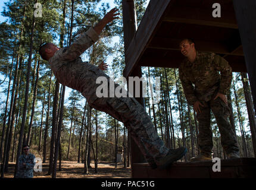
{"type": "Polygon", "coordinates": [[[221,17],[214,18],[214,0],[150,1],[126,52],[124,77],[136,66],[178,68],[184,59],[183,38],[192,38],[202,52],[223,56],[235,72],[246,72],[232,0],[220,0],[221,17]]]}

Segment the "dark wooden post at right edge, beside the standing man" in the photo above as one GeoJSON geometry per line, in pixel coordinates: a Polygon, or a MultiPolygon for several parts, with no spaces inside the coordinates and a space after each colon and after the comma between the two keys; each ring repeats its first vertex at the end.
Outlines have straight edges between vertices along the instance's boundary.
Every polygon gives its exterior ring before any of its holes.
{"type": "MultiPolygon", "coordinates": [[[[256,1],[233,0],[256,113],[256,1]]],[[[255,129],[252,129],[252,133],[255,129]]],[[[255,141],[253,142],[255,146],[255,141]]]]}

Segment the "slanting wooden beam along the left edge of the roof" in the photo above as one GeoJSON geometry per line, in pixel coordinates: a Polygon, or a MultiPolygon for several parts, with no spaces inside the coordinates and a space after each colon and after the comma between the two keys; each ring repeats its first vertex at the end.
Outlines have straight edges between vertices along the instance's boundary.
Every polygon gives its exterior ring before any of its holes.
{"type": "Polygon", "coordinates": [[[135,37],[133,37],[129,48],[126,51],[127,59],[126,68],[124,68],[123,72],[124,77],[128,77],[130,75],[142,53],[145,51],[146,45],[151,40],[152,34],[160,26],[167,7],[169,7],[175,1],[176,0],[164,0],[149,2],[135,37]]]}

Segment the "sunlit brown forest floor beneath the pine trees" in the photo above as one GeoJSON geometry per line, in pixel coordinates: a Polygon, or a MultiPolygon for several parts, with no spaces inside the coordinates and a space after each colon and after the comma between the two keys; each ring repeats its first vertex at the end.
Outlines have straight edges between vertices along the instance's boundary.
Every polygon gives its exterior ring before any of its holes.
{"type": "MultiPolygon", "coordinates": [[[[94,164],[90,164],[89,175],[83,174],[84,164],[75,161],[61,162],[62,170],[58,171],[57,178],[131,178],[131,168],[123,167],[123,163],[118,163],[115,168],[115,163],[100,162],[98,164],[98,173],[95,173],[94,164]]],[[[5,173],[5,178],[13,178],[15,163],[9,163],[9,172],[5,173]]],[[[51,178],[47,175],[49,163],[42,164],[42,172],[34,172],[34,178],[51,178]]]]}

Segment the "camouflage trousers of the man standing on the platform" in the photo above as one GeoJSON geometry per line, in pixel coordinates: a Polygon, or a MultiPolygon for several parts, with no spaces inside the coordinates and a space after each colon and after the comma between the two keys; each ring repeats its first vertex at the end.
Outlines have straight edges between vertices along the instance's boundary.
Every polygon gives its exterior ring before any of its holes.
{"type": "MultiPolygon", "coordinates": [[[[216,93],[214,94],[216,96],[216,93]]],[[[218,129],[220,131],[221,145],[229,153],[238,153],[238,143],[236,141],[236,134],[228,118],[230,115],[230,108],[220,97],[214,100],[205,102],[200,100],[204,107],[200,106],[201,113],[196,114],[196,119],[199,121],[199,137],[198,145],[201,154],[213,154],[213,132],[211,131],[211,110],[216,118],[218,129]]]]}

